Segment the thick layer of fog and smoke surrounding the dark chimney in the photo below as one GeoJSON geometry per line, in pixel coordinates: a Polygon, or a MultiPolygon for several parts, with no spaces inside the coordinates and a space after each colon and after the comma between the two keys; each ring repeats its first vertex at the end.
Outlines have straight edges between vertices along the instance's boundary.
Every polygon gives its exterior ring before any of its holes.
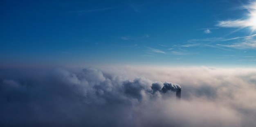
{"type": "Polygon", "coordinates": [[[256,125],[255,69],[97,68],[55,68],[45,75],[25,76],[22,75],[25,71],[0,70],[0,125],[256,125]],[[182,86],[180,101],[176,101],[171,91],[180,88],[174,83],[182,86]],[[163,88],[170,88],[170,91],[163,93],[163,88]]]}

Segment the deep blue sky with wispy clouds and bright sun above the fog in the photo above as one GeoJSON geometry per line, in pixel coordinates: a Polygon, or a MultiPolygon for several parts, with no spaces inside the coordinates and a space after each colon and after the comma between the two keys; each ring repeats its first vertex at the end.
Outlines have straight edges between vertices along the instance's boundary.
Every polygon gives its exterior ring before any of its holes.
{"type": "Polygon", "coordinates": [[[256,65],[255,0],[5,0],[0,67],[256,65]]]}

